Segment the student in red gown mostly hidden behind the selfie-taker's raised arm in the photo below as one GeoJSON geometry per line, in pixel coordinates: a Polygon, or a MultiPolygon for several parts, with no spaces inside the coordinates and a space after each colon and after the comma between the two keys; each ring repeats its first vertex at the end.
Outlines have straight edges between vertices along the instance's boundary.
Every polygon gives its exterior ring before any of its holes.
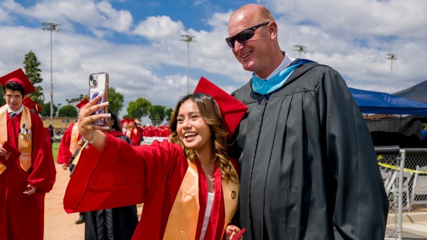
{"type": "MultiPolygon", "coordinates": [[[[86,98],[83,98],[81,102],[77,103],[76,107],[81,109],[89,102],[86,98]]],[[[61,144],[59,144],[58,155],[56,156],[56,163],[62,164],[63,170],[67,170],[69,166],[72,166],[70,159],[72,155],[76,152],[77,144],[81,139],[81,135],[77,129],[77,122],[73,122],[70,126],[65,129],[64,134],[62,135],[61,144]]],[[[70,168],[70,171],[72,169],[70,168]]],[[[79,213],[79,219],[74,223],[81,224],[85,222],[85,212],[79,213]]]]}

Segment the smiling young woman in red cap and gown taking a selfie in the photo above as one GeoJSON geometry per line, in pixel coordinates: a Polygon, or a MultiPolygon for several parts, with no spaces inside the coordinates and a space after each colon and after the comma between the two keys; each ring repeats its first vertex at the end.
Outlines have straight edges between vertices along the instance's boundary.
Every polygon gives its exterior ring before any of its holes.
{"type": "Polygon", "coordinates": [[[132,239],[229,239],[240,231],[228,225],[238,208],[239,180],[226,143],[246,106],[202,78],[195,94],[178,101],[170,141],[129,146],[92,124],[108,117],[90,116],[105,106],[96,102],[80,112],[87,149],[67,186],[66,212],[143,203],[132,239]]]}

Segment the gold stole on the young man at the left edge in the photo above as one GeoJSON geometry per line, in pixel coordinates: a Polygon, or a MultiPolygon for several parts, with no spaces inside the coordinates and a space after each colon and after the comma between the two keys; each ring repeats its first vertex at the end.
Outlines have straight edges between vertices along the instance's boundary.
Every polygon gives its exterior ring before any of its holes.
{"type": "MultiPolygon", "coordinates": [[[[0,108],[0,142],[8,140],[8,109],[6,105],[0,108]]],[[[26,172],[31,167],[31,153],[32,153],[32,129],[31,129],[31,115],[27,107],[23,107],[21,122],[19,123],[19,138],[18,149],[21,151],[19,156],[19,163],[21,168],[26,172]]],[[[3,164],[0,165],[0,173],[6,169],[3,164]]]]}

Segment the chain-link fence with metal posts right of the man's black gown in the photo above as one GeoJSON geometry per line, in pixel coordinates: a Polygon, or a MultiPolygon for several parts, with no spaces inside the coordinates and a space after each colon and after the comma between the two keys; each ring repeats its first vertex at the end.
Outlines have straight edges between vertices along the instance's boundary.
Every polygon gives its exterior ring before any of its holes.
{"type": "Polygon", "coordinates": [[[427,149],[385,146],[375,152],[390,204],[386,238],[402,239],[403,213],[427,212],[427,149]]]}

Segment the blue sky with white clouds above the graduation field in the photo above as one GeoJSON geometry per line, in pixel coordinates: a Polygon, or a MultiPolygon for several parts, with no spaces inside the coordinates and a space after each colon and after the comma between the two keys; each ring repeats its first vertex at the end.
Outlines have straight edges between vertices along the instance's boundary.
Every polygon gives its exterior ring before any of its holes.
{"type": "Polygon", "coordinates": [[[52,33],[54,103],[87,93],[87,77],[108,72],[110,85],[129,101],[147,98],[174,107],[205,76],[228,92],[249,80],[227,47],[233,10],[260,3],[273,13],[279,42],[298,57],[337,69],[349,87],[400,91],[427,79],[425,0],[340,1],[0,1],[0,75],[23,67],[32,51],[41,62],[45,102],[50,100],[50,34],[41,23],[59,23],[52,33]],[[387,53],[397,54],[390,75],[387,53]]]}

